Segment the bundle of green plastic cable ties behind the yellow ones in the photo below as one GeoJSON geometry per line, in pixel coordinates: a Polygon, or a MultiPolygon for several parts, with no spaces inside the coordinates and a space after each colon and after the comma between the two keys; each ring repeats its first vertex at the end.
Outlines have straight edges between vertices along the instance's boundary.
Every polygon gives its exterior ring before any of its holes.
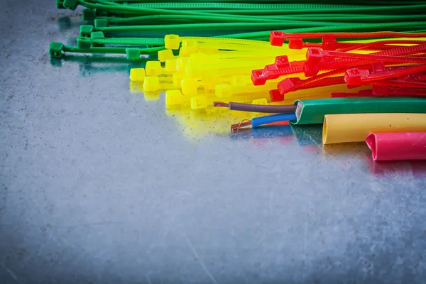
{"type": "Polygon", "coordinates": [[[51,43],[50,55],[96,53],[156,55],[171,33],[267,41],[269,31],[422,31],[426,29],[422,1],[123,1],[56,0],[59,9],[83,6],[77,46],[51,43]]]}

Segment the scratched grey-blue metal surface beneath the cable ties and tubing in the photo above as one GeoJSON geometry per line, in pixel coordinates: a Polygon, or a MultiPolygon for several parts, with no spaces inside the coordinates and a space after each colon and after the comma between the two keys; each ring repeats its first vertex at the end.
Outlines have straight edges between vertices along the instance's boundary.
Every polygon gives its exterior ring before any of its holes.
{"type": "Polygon", "coordinates": [[[79,11],[3,2],[0,283],[425,283],[425,163],[166,113],[125,60],[50,60],[79,11]]]}

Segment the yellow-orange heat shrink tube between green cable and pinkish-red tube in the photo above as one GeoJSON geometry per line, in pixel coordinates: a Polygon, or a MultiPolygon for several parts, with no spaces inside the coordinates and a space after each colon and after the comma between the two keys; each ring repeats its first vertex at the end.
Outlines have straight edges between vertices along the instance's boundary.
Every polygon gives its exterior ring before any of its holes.
{"type": "Polygon", "coordinates": [[[426,114],[328,114],[322,143],[362,142],[369,133],[423,132],[426,114]]]}

